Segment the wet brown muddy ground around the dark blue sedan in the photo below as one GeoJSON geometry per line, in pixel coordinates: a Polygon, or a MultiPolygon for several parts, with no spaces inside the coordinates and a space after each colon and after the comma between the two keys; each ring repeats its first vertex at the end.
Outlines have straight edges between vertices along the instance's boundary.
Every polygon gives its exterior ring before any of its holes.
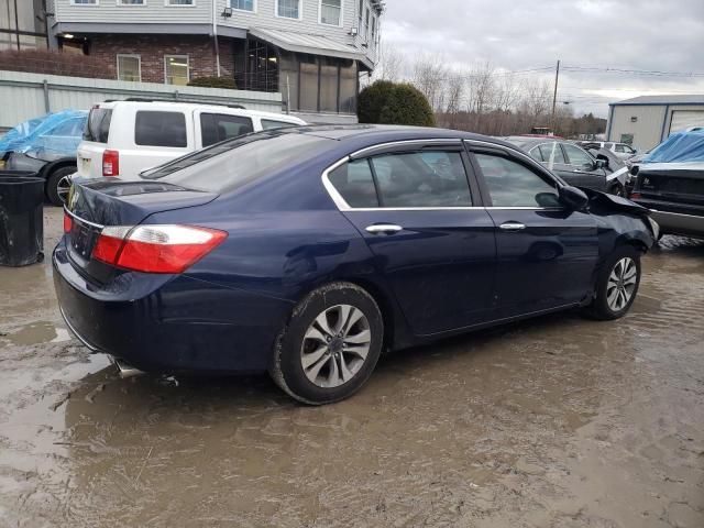
{"type": "Polygon", "coordinates": [[[644,272],[620,321],[394,354],[309,408],[265,376],[120,380],[47,264],[0,268],[0,526],[702,528],[704,244],[644,272]]]}

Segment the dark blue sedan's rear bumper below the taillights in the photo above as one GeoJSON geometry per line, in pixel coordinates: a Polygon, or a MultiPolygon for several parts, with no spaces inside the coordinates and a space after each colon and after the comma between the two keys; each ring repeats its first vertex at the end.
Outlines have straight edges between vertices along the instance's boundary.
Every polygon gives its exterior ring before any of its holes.
{"type": "Polygon", "coordinates": [[[61,312],[76,337],[146,372],[263,372],[293,306],[187,276],[118,297],[78,274],[62,243],[53,266],[61,312]]]}

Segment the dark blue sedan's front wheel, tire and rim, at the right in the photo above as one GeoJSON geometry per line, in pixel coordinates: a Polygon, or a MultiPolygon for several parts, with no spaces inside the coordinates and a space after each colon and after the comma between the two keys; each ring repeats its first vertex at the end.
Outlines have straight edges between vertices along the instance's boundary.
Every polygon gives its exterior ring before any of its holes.
{"type": "Polygon", "coordinates": [[[640,253],[632,246],[617,248],[596,280],[596,295],[587,312],[600,320],[624,317],[640,286],[640,253]]]}

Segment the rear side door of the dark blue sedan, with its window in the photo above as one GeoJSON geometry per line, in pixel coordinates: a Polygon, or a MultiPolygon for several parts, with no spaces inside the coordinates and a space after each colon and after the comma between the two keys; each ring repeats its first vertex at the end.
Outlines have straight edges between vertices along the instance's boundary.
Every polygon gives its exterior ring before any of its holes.
{"type": "Polygon", "coordinates": [[[473,207],[468,164],[460,145],[396,150],[329,176],[418,336],[495,318],[494,223],[473,207]]]}

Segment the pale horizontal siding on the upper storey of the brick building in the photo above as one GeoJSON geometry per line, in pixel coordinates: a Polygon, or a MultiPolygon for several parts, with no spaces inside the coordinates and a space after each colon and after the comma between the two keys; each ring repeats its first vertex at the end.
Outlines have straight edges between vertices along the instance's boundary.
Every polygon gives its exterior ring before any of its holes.
{"type": "MultiPolygon", "coordinates": [[[[146,6],[119,6],[118,0],[98,0],[98,6],[74,6],[70,0],[54,0],[57,22],[92,22],[92,23],[174,23],[174,24],[211,24],[212,0],[196,0],[195,7],[167,7],[165,0],[145,0],[146,6]]],[[[342,0],[342,26],[320,24],[320,0],[301,0],[302,19],[285,19],[275,15],[276,0],[255,0],[256,12],[249,14],[233,11],[232,18],[223,19],[220,13],[229,0],[216,0],[216,18],[219,25],[238,29],[253,26],[295,31],[314,35],[323,35],[364,52],[372,61],[376,61],[376,43],[364,34],[359,26],[360,0],[342,0]],[[358,28],[359,35],[350,36],[350,30],[358,28]],[[362,47],[367,43],[369,47],[362,47]]],[[[370,0],[364,0],[371,7],[370,0]]],[[[375,13],[371,10],[371,13],[375,13]]],[[[376,16],[376,14],[374,14],[376,16]]],[[[380,21],[377,20],[377,33],[380,21]]],[[[177,29],[174,30],[178,32],[177,29]]],[[[371,33],[371,22],[370,22],[371,33]]]]}

